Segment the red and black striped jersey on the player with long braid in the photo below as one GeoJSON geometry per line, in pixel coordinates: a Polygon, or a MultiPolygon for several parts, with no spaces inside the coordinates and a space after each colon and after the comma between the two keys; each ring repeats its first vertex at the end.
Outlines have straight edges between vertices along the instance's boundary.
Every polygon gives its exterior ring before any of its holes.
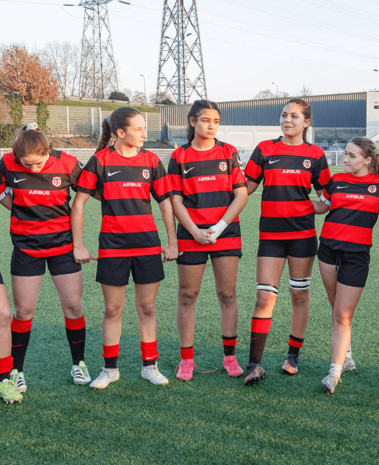
{"type": "Polygon", "coordinates": [[[77,190],[101,196],[99,257],[137,257],[161,252],[151,198],[173,195],[166,170],[155,153],[141,149],[122,157],[114,148],[95,153],[84,167],[77,190]]]}

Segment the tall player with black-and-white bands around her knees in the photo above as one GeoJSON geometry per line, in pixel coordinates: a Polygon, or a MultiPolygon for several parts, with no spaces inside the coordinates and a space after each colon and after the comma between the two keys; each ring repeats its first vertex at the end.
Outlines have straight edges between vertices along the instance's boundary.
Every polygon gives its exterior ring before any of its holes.
{"type": "Polygon", "coordinates": [[[282,372],[298,372],[299,348],[303,345],[309,317],[309,281],[317,254],[314,208],[309,194],[312,185],[318,196],[330,179],[324,152],[306,141],[312,122],[310,106],[302,99],[289,100],[280,115],[282,137],[260,142],[245,169],[247,192],[253,193],[263,180],[257,298],[251,323],[250,356],[245,385],[265,378],[260,365],[280,277],[286,260],[292,301],[289,350],[282,372]]]}

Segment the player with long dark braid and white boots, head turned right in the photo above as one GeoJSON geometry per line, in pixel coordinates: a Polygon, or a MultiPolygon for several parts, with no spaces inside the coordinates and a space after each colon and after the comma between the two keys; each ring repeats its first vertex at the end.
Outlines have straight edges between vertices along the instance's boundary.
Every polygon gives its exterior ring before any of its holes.
{"type": "Polygon", "coordinates": [[[117,360],[120,353],[121,315],[125,289],[133,275],[135,306],[141,348],[141,377],[155,385],[168,384],[158,370],[157,320],[155,298],[164,279],[163,262],[178,256],[175,220],[170,197],[172,187],[160,159],[143,149],[147,138],[142,115],[133,108],[121,107],[103,121],[100,145],[83,169],[73,202],[73,253],[77,263],[94,257],[83,244],[84,206],[98,191],[102,222],[96,281],[104,295],[104,368],[90,384],[104,389],[120,378],[117,360]],[[117,136],[107,147],[111,133],[117,136]],[[151,210],[151,196],[159,203],[166,226],[168,245],[160,246],[151,210]]]}

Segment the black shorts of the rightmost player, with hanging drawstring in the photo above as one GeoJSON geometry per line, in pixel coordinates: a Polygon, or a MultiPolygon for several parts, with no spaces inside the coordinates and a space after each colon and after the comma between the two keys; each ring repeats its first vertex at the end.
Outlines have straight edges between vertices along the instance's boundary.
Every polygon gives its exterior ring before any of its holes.
{"type": "Polygon", "coordinates": [[[319,245],[319,260],[335,265],[337,281],[345,286],[365,287],[370,265],[370,252],[344,252],[334,250],[325,244],[319,245]]]}

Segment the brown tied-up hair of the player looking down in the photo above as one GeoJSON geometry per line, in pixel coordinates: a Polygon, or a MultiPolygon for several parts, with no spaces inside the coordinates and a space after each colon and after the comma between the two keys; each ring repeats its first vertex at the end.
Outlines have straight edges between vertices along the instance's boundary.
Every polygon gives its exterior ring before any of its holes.
{"type": "Polygon", "coordinates": [[[37,123],[28,123],[14,138],[12,152],[14,158],[23,158],[29,154],[45,156],[49,152],[49,142],[37,123]],[[32,125],[33,129],[30,129],[32,125]]]}

